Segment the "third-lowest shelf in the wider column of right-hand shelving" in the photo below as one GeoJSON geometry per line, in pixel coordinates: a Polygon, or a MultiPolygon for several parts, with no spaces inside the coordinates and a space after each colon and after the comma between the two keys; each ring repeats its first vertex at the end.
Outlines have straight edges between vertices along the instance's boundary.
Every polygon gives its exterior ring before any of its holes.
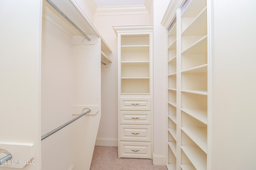
{"type": "Polygon", "coordinates": [[[181,127],[181,129],[207,154],[207,128],[181,127]]]}

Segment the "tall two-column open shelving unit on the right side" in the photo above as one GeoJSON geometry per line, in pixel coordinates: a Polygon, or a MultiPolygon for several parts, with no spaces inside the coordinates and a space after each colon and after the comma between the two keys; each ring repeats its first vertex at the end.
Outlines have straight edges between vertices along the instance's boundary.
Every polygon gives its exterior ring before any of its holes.
{"type": "Polygon", "coordinates": [[[206,170],[208,150],[206,0],[183,1],[168,29],[169,170],[206,170]]]}

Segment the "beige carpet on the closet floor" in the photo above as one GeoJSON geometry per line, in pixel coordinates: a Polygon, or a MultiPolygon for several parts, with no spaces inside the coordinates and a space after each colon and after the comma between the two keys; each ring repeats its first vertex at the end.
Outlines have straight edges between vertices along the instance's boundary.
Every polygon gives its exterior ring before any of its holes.
{"type": "Polygon", "coordinates": [[[118,158],[118,147],[95,146],[90,170],[167,170],[151,159],[118,158]]]}

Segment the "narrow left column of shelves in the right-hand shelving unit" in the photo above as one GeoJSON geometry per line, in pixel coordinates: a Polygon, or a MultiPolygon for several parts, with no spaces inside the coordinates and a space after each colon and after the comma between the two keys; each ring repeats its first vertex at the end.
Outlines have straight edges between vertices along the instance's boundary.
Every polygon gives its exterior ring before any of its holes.
{"type": "Polygon", "coordinates": [[[177,162],[177,24],[172,22],[168,33],[168,162],[170,170],[177,162]]]}

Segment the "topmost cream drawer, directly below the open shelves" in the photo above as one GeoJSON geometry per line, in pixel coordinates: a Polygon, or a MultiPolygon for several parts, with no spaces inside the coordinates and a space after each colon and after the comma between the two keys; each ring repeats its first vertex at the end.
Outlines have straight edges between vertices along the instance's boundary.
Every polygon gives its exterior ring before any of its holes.
{"type": "Polygon", "coordinates": [[[120,98],[120,110],[150,110],[150,98],[120,98]]]}

